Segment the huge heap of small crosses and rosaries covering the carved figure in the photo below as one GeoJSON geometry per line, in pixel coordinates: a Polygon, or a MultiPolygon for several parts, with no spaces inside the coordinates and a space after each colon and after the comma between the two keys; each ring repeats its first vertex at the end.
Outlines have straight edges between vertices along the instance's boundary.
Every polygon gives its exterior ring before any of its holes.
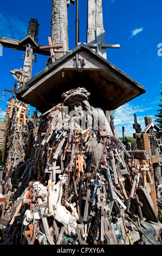
{"type": "MultiPolygon", "coordinates": [[[[24,107],[9,107],[16,111],[13,129],[18,120],[25,125],[24,107]]],[[[1,244],[161,243],[160,228],[153,228],[160,223],[147,193],[152,167],[145,150],[128,152],[118,137],[103,135],[96,167],[85,154],[85,144],[100,127],[83,130],[64,115],[62,103],[44,114],[35,112],[33,118],[25,158],[11,162],[18,150],[9,150],[11,172],[5,168],[0,175],[1,244]]],[[[18,124],[11,133],[15,139],[23,136],[18,124]]]]}

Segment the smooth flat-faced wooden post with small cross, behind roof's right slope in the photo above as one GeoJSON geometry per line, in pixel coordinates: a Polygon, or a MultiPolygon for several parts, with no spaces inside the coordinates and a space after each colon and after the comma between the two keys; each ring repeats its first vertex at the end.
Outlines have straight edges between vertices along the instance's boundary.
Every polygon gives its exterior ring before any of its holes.
{"type": "Polygon", "coordinates": [[[106,48],[120,48],[120,45],[106,44],[105,30],[103,29],[102,0],[88,0],[87,13],[86,45],[107,59],[106,48]]]}

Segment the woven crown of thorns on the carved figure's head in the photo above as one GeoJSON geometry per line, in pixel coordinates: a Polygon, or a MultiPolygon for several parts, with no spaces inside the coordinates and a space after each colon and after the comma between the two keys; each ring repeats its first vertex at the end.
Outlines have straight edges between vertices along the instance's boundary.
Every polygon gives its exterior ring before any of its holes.
{"type": "Polygon", "coordinates": [[[69,90],[62,94],[62,100],[64,104],[69,104],[74,101],[88,100],[90,93],[86,88],[80,88],[69,90]]]}

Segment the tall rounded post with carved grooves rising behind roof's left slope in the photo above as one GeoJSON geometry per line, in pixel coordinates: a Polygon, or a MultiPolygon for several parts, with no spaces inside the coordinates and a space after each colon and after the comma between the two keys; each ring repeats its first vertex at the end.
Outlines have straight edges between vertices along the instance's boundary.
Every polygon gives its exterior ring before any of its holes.
{"type": "MultiPolygon", "coordinates": [[[[68,41],[68,14],[67,0],[53,0],[51,14],[51,43],[52,45],[62,45],[62,51],[69,50],[68,41]]],[[[55,53],[55,58],[63,56],[63,52],[55,53]]]]}

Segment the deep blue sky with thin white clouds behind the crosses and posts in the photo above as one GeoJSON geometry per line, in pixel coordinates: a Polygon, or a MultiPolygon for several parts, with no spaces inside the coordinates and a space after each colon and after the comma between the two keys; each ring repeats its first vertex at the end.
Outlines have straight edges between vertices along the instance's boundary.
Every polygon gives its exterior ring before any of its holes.
{"type": "MultiPolygon", "coordinates": [[[[116,109],[114,124],[118,136],[122,136],[122,126],[125,135],[133,136],[134,113],[138,123],[144,129],[144,117],[157,114],[161,96],[162,81],[162,33],[160,0],[102,0],[103,26],[106,32],[107,44],[120,44],[120,49],[107,49],[107,60],[131,76],[145,87],[146,93],[116,109]],[[159,46],[159,47],[158,47],[159,46]],[[159,54],[158,54],[159,53],[159,54]]],[[[31,18],[40,24],[38,44],[48,45],[50,36],[51,0],[3,1],[0,9],[0,37],[6,36],[22,40],[28,29],[31,18]]],[[[87,0],[79,0],[79,30],[80,42],[86,42],[87,0]]],[[[68,8],[69,50],[75,47],[75,5],[68,8]]],[[[1,47],[0,47],[1,48],[1,47]]],[[[15,79],[10,70],[23,68],[23,52],[9,48],[0,51],[0,106],[1,120],[4,109],[10,98],[10,93],[3,89],[14,88],[15,79]],[[1,56],[2,55],[2,56],[1,56]]],[[[33,74],[46,67],[46,56],[37,55],[33,64],[33,74]]],[[[31,111],[34,109],[31,108],[31,111]]]]}

